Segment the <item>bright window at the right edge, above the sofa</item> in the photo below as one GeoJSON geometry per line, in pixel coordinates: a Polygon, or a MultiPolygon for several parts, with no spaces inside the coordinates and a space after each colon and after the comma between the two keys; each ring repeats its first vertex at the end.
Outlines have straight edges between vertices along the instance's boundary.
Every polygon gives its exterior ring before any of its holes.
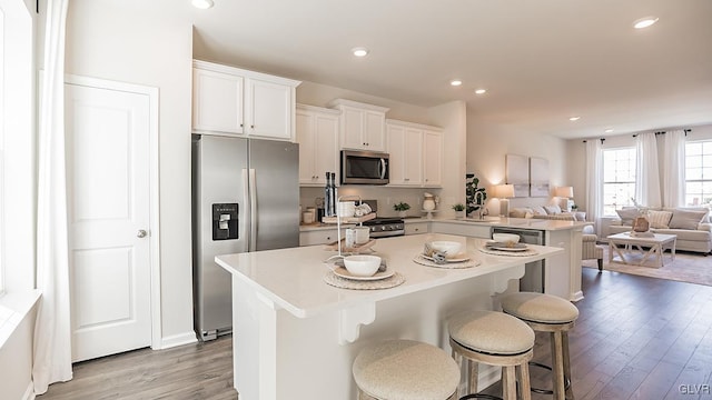
{"type": "Polygon", "coordinates": [[[685,204],[712,208],[712,140],[685,144],[685,204]]]}

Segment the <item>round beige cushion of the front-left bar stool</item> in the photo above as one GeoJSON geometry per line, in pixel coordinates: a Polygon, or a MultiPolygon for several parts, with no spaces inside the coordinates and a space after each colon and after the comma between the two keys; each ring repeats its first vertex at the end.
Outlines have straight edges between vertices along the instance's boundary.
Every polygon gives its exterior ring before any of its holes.
{"type": "Polygon", "coordinates": [[[414,340],[388,340],[362,350],[353,366],[356,384],[385,400],[447,399],[459,368],[442,349],[414,340]]]}

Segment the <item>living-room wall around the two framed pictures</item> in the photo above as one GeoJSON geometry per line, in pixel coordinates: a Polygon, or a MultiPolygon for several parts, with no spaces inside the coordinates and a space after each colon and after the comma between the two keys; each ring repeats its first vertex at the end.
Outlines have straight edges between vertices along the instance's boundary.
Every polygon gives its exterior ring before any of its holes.
{"type": "MultiPolygon", "coordinates": [[[[494,124],[467,110],[467,172],[479,178],[479,187],[487,189],[487,208],[497,213],[500,201],[492,199],[492,186],[504,183],[505,156],[520,154],[541,157],[548,160],[550,188],[573,184],[567,176],[566,141],[553,136],[523,132],[504,124],[494,124]]],[[[574,194],[575,189],[574,189],[574,194]]],[[[544,206],[552,202],[546,198],[513,198],[510,209],[524,206],[544,206]]]]}

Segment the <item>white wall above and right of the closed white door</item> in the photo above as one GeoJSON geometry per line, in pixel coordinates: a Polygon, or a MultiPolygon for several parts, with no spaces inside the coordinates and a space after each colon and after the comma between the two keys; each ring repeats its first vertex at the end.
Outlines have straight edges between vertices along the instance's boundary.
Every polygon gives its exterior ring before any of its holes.
{"type": "MultiPolygon", "coordinates": [[[[190,7],[178,4],[176,7],[190,7]]],[[[159,89],[164,342],[192,334],[190,116],[192,27],[146,1],[72,0],[67,73],[159,89]]]]}

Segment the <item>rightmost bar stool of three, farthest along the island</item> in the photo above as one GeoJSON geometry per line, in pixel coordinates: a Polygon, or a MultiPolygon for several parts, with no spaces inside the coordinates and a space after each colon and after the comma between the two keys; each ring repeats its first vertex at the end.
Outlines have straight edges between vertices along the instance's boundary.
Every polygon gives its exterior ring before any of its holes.
{"type": "Polygon", "coordinates": [[[505,294],[500,298],[502,310],[526,322],[537,332],[550,332],[554,390],[532,389],[540,393],[554,394],[554,399],[574,399],[571,389],[571,361],[568,359],[568,330],[578,318],[578,309],[570,301],[556,296],[532,292],[505,294]]]}

